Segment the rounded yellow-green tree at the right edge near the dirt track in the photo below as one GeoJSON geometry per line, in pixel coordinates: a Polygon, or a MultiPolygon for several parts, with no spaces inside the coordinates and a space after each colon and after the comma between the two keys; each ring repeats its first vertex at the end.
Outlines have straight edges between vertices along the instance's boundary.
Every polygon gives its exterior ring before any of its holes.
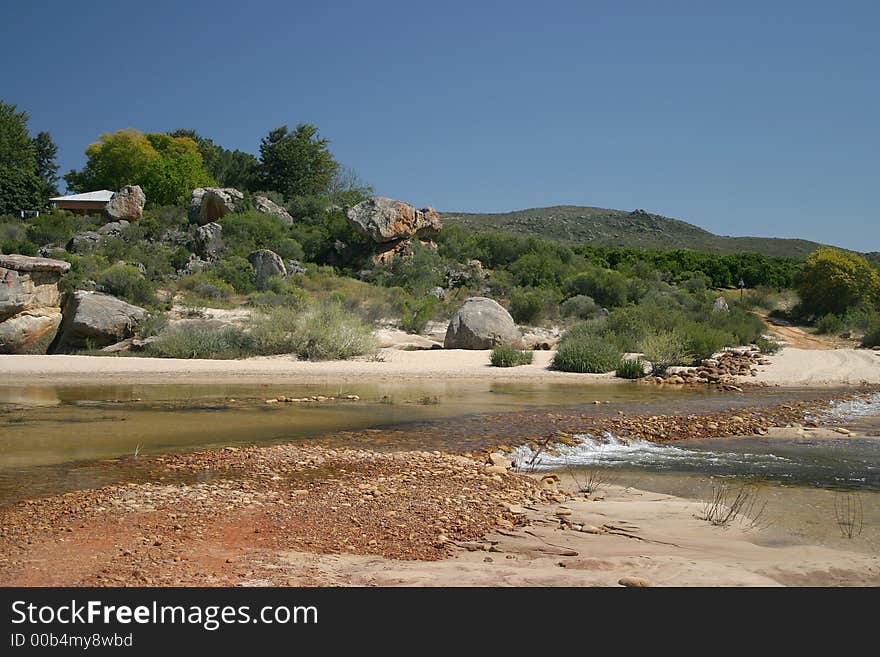
{"type": "Polygon", "coordinates": [[[807,258],[797,291],[806,312],[840,315],[880,303],[880,274],[857,253],[823,247],[807,258]]]}

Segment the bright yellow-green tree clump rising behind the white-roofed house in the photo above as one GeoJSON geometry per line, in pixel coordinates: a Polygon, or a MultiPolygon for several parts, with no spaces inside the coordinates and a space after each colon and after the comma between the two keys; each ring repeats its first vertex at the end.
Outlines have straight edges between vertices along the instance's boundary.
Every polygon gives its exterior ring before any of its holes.
{"type": "Polygon", "coordinates": [[[188,137],[128,128],[105,133],[86,148],[85,167],[64,176],[77,192],[140,185],[147,201],[180,205],[196,187],[213,185],[198,144],[188,137]]]}

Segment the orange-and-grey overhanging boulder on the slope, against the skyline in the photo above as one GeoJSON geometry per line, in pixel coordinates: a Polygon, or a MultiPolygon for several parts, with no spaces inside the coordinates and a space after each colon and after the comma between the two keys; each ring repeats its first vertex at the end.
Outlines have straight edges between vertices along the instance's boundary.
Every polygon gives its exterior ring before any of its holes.
{"type": "Polygon", "coordinates": [[[356,230],[376,243],[430,237],[443,227],[440,213],[434,208],[417,210],[409,203],[381,196],[361,201],[345,216],[356,230]]]}

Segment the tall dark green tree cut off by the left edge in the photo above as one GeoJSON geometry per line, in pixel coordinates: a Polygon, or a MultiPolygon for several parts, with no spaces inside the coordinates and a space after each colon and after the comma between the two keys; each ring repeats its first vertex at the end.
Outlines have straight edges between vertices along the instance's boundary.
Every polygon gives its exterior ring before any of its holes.
{"type": "Polygon", "coordinates": [[[42,198],[34,142],[28,132],[27,112],[0,101],[0,213],[33,210],[42,198]]]}

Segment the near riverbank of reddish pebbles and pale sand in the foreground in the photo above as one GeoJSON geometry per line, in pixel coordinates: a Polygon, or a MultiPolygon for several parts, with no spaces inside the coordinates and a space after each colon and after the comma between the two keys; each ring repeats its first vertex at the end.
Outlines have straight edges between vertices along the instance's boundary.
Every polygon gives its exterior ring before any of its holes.
{"type": "Polygon", "coordinates": [[[876,554],[714,526],[703,503],[665,494],[585,496],[568,477],[480,458],[281,445],[159,465],[193,481],[0,512],[0,584],[880,585],[876,554]]]}

